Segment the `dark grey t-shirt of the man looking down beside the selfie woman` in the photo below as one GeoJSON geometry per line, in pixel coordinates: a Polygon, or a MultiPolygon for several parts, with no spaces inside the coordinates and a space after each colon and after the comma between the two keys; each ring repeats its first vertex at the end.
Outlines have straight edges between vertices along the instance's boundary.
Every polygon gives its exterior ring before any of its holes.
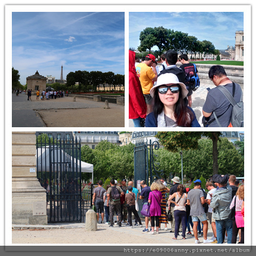
{"type": "MultiPolygon", "coordinates": [[[[233,84],[228,83],[224,86],[232,95],[233,84]]],[[[242,89],[239,84],[235,83],[234,100],[236,103],[240,102],[242,89]]],[[[215,112],[218,117],[218,121],[221,127],[228,127],[230,116],[232,113],[232,106],[230,106],[229,100],[226,96],[217,88],[213,88],[208,92],[206,102],[204,103],[202,110],[207,113],[215,112]],[[230,107],[229,107],[230,106],[230,107]]],[[[209,117],[209,121],[214,119],[214,115],[209,117]]],[[[213,121],[208,127],[219,127],[216,121],[213,121]]]]}

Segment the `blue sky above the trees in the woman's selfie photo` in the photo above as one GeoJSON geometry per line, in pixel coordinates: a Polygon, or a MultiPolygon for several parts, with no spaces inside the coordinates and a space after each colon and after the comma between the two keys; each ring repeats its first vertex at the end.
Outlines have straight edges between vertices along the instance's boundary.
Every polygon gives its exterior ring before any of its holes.
{"type": "MultiPolygon", "coordinates": [[[[244,30],[243,12],[129,12],[129,47],[140,45],[146,27],[173,29],[207,40],[216,49],[235,46],[235,31],[244,30]]],[[[157,50],[155,46],[152,50],[157,50]]]]}

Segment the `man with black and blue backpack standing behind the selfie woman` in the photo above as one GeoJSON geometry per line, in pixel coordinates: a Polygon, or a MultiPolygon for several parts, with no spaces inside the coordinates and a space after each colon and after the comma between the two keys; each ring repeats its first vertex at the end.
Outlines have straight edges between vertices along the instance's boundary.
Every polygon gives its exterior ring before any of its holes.
{"type": "Polygon", "coordinates": [[[198,77],[198,71],[196,64],[189,62],[189,57],[186,54],[180,55],[180,68],[185,73],[185,86],[189,93],[187,94],[187,99],[189,100],[189,107],[192,107],[192,94],[193,91],[196,91],[200,86],[200,79],[198,77]]]}

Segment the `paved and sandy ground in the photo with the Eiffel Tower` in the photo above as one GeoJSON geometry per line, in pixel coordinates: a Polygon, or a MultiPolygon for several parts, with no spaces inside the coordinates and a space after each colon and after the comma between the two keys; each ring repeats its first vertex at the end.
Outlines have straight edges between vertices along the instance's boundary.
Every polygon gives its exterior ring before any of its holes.
{"type": "Polygon", "coordinates": [[[50,100],[27,100],[12,93],[12,127],[124,127],[125,106],[73,96],[50,100]]]}

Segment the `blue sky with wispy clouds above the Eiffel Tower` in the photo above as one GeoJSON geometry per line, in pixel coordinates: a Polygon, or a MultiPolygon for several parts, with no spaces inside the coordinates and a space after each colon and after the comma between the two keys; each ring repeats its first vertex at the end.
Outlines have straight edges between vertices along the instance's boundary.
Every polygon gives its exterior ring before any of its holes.
{"type": "Polygon", "coordinates": [[[39,72],[125,74],[124,12],[12,12],[12,66],[21,84],[39,72]]]}

